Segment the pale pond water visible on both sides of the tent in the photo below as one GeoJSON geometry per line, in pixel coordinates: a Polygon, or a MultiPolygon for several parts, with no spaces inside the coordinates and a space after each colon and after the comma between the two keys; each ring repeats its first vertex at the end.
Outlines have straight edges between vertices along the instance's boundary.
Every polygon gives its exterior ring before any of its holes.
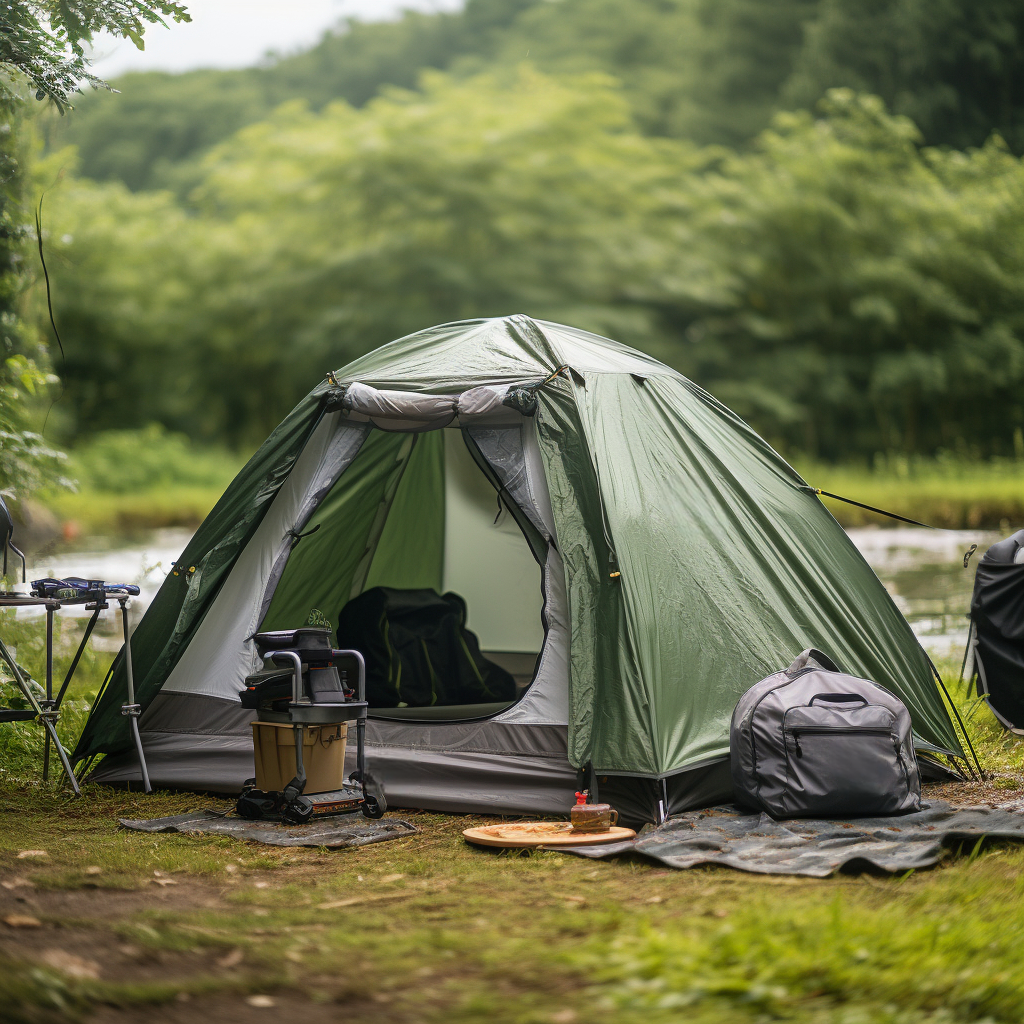
{"type": "MultiPolygon", "coordinates": [[[[967,640],[967,613],[978,559],[998,534],[916,528],[851,529],[850,538],[892,594],[925,648],[940,657],[957,656],[967,640]],[[978,551],[970,567],[964,554],[978,551]]],[[[133,602],[132,622],[142,611],[178,559],[191,534],[185,529],[156,530],[143,543],[110,550],[62,552],[34,559],[29,579],[73,574],[93,580],[135,583],[141,595],[133,602]]],[[[33,609],[35,610],[35,609],[33,609]]],[[[81,608],[70,613],[86,614],[81,608]]],[[[24,609],[19,614],[31,613],[24,609]]],[[[97,638],[97,644],[104,642],[97,638]]]]}

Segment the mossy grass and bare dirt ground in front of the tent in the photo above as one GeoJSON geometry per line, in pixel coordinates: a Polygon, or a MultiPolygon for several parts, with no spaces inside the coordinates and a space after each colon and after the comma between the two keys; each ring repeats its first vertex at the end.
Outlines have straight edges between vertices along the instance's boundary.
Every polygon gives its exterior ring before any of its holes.
{"type": "MultiPolygon", "coordinates": [[[[1024,742],[954,696],[995,784],[1019,790],[1024,742]]],[[[498,854],[463,841],[479,818],[413,813],[414,837],[282,849],[121,830],[230,805],[74,800],[33,757],[0,775],[0,918],[40,922],[0,924],[0,1020],[966,1024],[1024,1005],[1024,848],[818,881],[498,854]]]]}

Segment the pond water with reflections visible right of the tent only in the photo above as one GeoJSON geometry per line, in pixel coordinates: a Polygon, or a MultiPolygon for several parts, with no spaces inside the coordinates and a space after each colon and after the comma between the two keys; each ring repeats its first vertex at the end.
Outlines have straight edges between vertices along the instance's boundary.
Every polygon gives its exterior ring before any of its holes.
{"type": "Polygon", "coordinates": [[[944,529],[851,529],[850,538],[878,573],[931,654],[958,656],[978,559],[999,534],[944,529]],[[964,568],[972,544],[978,550],[964,568]]]}

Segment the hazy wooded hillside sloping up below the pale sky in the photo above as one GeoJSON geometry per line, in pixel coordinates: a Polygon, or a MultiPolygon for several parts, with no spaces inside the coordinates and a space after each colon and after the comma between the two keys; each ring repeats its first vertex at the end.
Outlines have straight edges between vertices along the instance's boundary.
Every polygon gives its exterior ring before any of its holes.
{"type": "Polygon", "coordinates": [[[273,106],[361,106],[414,88],[424,69],[461,76],[529,60],[552,74],[618,78],[643,129],[742,143],[766,124],[818,0],[469,0],[463,11],[347,20],[312,49],[241,71],[133,74],[120,93],[83,97],[50,128],[82,173],[131,188],[186,191],[196,159],[273,106]]]}

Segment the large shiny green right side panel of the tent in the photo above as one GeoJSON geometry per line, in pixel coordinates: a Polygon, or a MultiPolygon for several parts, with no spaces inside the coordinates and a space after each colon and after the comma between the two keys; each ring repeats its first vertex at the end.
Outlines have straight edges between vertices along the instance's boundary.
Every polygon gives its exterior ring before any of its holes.
{"type": "Polygon", "coordinates": [[[618,679],[596,674],[598,770],[663,774],[727,755],[739,695],[811,646],[898,693],[919,735],[959,751],[910,627],[770,447],[675,376],[588,375],[577,393],[627,627],[618,679]]]}

